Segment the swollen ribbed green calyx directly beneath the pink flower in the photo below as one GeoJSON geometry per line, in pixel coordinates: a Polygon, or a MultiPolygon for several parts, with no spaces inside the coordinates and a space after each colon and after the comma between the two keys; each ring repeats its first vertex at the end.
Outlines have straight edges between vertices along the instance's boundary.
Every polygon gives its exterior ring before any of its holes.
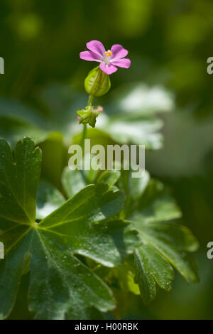
{"type": "Polygon", "coordinates": [[[107,94],[111,87],[109,75],[103,72],[99,66],[89,72],[85,81],[84,87],[86,92],[92,96],[102,96],[107,94]]]}

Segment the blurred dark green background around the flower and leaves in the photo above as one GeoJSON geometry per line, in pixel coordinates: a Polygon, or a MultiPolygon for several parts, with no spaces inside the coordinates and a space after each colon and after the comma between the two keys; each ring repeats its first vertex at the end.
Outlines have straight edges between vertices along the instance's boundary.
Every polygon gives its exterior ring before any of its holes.
{"type": "MultiPolygon", "coordinates": [[[[46,119],[49,110],[38,95],[49,85],[72,87],[79,101],[86,101],[84,77],[96,64],[80,60],[79,53],[92,39],[102,41],[106,48],[120,43],[131,58],[129,70],[119,69],[111,75],[111,92],[102,99],[103,105],[112,103],[114,91],[128,82],[165,87],[173,95],[173,112],[161,116],[165,122],[163,149],[146,153],[146,169],[170,186],[182,209],[182,222],[200,241],[201,281],[187,286],[176,273],[170,293],[159,291],[146,307],[139,297],[129,299],[132,311],[124,309],[124,318],[213,318],[213,260],[206,256],[207,242],[213,240],[213,75],[207,74],[207,58],[213,56],[212,17],[212,0],[0,3],[1,57],[5,61],[5,74],[0,76],[2,101],[19,101],[35,110],[33,117],[46,119]]],[[[59,100],[52,99],[55,107],[59,100]]],[[[64,99],[66,102],[67,95],[64,99]]],[[[59,118],[64,117],[64,105],[58,106],[59,118]]],[[[32,118],[32,114],[26,110],[25,117],[32,118]]],[[[4,126],[1,136],[7,136],[9,126],[4,126]]],[[[51,140],[60,146],[54,136],[45,145],[51,140]]],[[[57,154],[55,149],[54,173],[60,170],[57,154]]]]}

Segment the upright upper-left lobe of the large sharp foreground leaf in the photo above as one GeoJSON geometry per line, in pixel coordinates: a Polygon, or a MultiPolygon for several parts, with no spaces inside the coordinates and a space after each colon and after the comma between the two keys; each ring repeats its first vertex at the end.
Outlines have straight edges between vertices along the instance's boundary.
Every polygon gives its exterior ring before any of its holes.
{"type": "Polygon", "coordinates": [[[4,139],[0,139],[0,152],[1,230],[13,222],[31,225],[35,222],[41,151],[34,149],[34,142],[25,137],[16,144],[14,161],[11,148],[4,139]]]}

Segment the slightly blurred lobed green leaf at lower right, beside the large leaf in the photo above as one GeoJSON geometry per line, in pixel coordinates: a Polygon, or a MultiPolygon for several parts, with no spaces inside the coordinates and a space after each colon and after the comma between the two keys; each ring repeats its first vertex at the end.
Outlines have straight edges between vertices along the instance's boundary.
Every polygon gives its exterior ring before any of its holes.
{"type": "Polygon", "coordinates": [[[168,190],[159,181],[151,180],[138,199],[137,210],[131,220],[143,244],[136,249],[136,282],[144,303],[155,298],[156,284],[170,290],[173,279],[172,264],[187,282],[199,281],[197,265],[190,252],[198,248],[190,230],[170,220],[181,212],[168,190]]]}

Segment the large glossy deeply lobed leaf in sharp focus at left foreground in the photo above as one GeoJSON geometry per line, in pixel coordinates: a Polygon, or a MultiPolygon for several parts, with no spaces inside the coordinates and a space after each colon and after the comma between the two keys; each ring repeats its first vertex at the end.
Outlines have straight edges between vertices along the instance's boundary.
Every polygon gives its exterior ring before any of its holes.
{"type": "Polygon", "coordinates": [[[0,318],[11,313],[28,259],[29,308],[35,318],[90,318],[97,314],[94,308],[114,308],[109,288],[75,254],[115,266],[133,252],[139,243],[136,231],[112,218],[124,195],[108,192],[104,184],[88,185],[37,224],[40,150],[25,138],[16,145],[13,160],[5,140],[0,146],[0,239],[6,253],[0,262],[0,318]]]}

